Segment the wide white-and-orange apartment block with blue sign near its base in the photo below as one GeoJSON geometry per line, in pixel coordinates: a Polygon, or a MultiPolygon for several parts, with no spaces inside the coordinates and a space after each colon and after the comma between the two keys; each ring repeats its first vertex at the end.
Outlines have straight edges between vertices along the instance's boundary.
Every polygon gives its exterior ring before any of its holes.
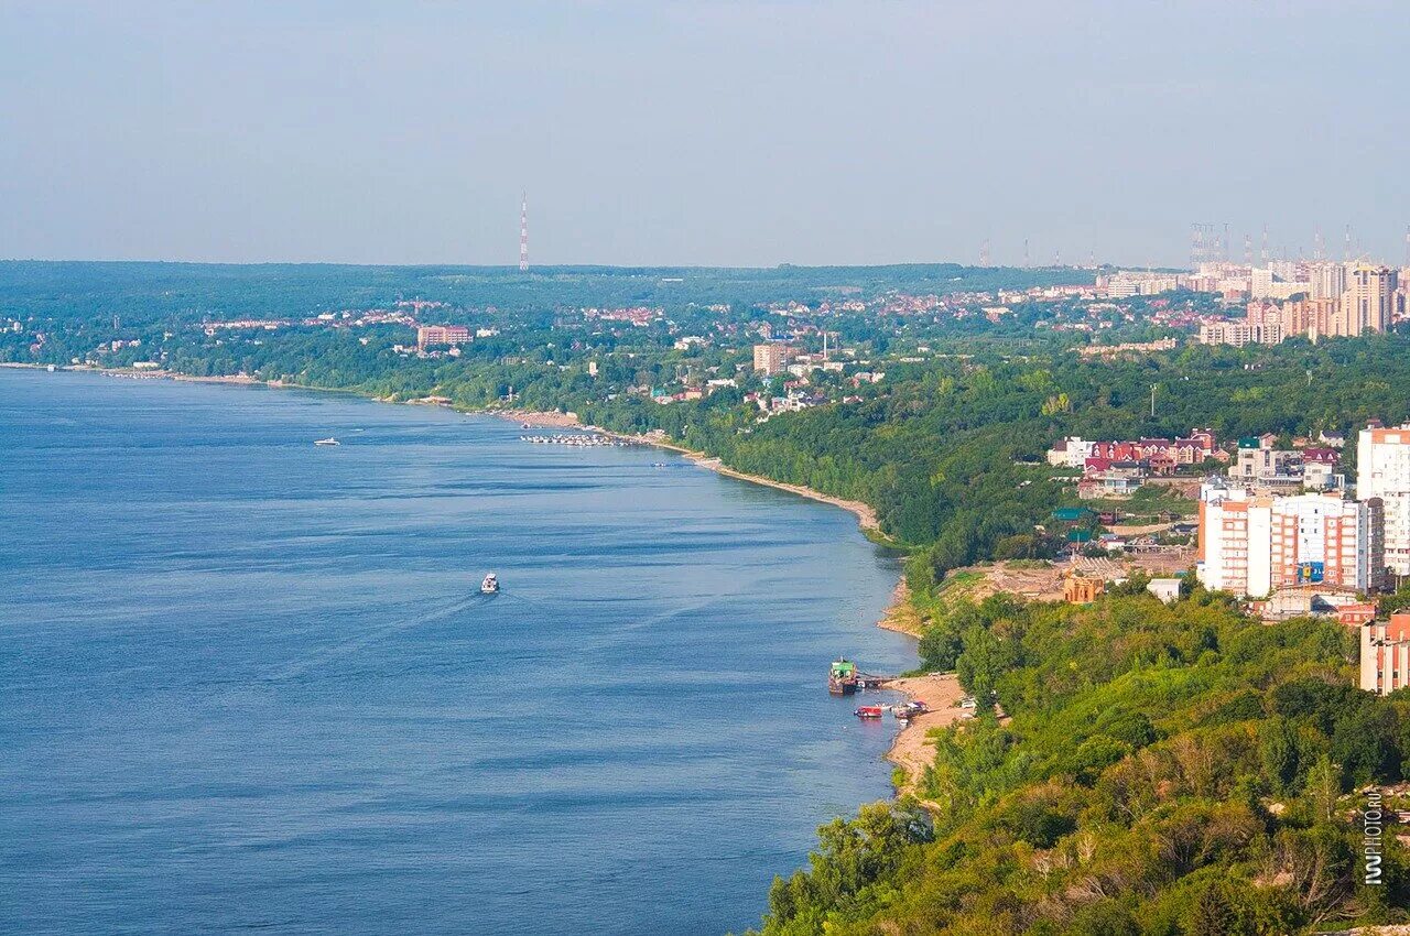
{"type": "Polygon", "coordinates": [[[1197,575],[1206,588],[1253,598],[1297,585],[1376,591],[1385,578],[1382,524],[1376,499],[1256,496],[1206,484],[1197,575]]]}

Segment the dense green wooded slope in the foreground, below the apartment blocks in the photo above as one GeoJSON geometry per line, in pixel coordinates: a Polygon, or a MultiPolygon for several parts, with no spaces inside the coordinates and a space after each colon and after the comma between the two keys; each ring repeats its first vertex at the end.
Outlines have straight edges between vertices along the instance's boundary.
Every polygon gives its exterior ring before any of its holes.
{"type": "Polygon", "coordinates": [[[1277,936],[1407,919],[1410,853],[1390,826],[1366,884],[1358,818],[1368,785],[1410,775],[1410,699],[1352,688],[1344,627],[1268,627],[1200,591],[1169,608],[1000,595],[953,613],[960,679],[1004,718],[942,733],[924,808],[823,826],[809,867],[774,882],[764,935],[1277,936]]]}

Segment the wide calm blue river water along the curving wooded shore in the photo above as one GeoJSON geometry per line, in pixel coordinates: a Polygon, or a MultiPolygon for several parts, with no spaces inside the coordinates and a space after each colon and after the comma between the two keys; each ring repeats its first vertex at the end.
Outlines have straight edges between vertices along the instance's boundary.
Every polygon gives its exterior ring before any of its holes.
{"type": "Polygon", "coordinates": [[[756,923],[890,791],[825,670],[914,664],[894,568],[842,510],[517,436],[0,371],[0,930],[756,923]]]}

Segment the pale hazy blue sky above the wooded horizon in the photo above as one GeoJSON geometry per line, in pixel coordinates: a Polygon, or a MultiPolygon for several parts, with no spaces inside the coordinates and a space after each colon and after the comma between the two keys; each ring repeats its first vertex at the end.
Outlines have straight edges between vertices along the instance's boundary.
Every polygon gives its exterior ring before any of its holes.
{"type": "Polygon", "coordinates": [[[0,257],[1404,257],[1403,0],[0,0],[0,257]]]}

